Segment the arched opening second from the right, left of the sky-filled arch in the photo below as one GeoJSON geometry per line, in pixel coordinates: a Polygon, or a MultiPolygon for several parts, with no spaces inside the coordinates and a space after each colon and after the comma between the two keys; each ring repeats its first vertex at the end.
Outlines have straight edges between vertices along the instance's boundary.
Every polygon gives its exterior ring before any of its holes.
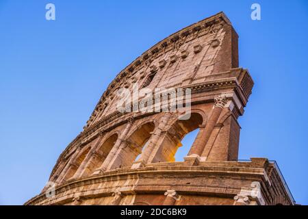
{"type": "Polygon", "coordinates": [[[154,131],[155,125],[153,122],[146,123],[134,131],[127,139],[127,147],[123,151],[120,163],[117,167],[131,166],[137,157],[142,153],[142,149],[146,146],[151,137],[151,132],[154,131]]]}

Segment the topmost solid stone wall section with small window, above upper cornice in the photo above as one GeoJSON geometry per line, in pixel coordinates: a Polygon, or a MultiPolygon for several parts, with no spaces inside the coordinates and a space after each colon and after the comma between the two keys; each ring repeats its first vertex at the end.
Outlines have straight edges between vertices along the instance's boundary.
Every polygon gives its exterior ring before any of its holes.
{"type": "Polygon", "coordinates": [[[223,12],[177,31],[122,70],[99,100],[85,129],[116,110],[116,92],[140,88],[181,88],[238,68],[238,35],[223,12]]]}

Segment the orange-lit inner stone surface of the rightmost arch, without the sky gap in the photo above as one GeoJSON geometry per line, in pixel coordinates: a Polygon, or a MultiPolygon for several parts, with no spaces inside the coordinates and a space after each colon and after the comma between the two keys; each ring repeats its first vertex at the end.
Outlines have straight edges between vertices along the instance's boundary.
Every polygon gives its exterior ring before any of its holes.
{"type": "Polygon", "coordinates": [[[164,140],[157,153],[155,153],[152,162],[175,162],[175,154],[179,147],[182,146],[181,140],[188,133],[203,125],[203,118],[204,114],[195,111],[192,112],[189,120],[179,120],[179,118],[172,120],[163,133],[164,140]]]}

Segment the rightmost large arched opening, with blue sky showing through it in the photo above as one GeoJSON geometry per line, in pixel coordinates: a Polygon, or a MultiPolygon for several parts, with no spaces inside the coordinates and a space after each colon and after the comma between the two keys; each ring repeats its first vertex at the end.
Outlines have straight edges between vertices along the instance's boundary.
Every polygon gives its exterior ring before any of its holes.
{"type": "Polygon", "coordinates": [[[153,163],[157,162],[175,162],[183,160],[188,154],[195,136],[198,134],[199,126],[203,124],[203,118],[198,113],[192,113],[189,120],[177,120],[165,133],[164,141],[159,151],[157,151],[153,158],[153,163]],[[185,148],[179,151],[179,155],[176,156],[178,149],[183,146],[183,138],[191,133],[188,139],[185,139],[185,148]],[[189,145],[190,144],[190,145],[189,145]],[[185,153],[185,154],[184,154],[185,153]]]}

